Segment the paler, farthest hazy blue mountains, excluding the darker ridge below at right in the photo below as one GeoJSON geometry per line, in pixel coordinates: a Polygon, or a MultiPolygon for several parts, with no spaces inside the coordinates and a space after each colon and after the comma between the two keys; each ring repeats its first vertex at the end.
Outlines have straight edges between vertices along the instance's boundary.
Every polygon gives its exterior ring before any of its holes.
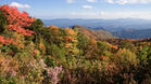
{"type": "Polygon", "coordinates": [[[84,26],[93,30],[105,29],[109,31],[124,29],[151,29],[151,20],[139,18],[119,19],[43,19],[46,26],[54,25],[60,27],[84,26]]]}

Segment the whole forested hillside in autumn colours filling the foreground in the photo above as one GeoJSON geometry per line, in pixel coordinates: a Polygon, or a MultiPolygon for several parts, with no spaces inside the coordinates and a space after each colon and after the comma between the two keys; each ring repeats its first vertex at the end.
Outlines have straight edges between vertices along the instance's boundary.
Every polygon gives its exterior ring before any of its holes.
{"type": "Polygon", "coordinates": [[[1,5],[0,84],[151,84],[150,40],[102,41],[88,32],[45,27],[1,5]]]}

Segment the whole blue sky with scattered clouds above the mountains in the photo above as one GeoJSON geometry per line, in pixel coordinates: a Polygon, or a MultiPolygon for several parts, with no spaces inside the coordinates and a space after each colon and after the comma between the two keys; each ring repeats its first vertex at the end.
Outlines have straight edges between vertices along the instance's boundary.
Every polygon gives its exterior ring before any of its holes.
{"type": "Polygon", "coordinates": [[[7,3],[45,19],[151,19],[151,0],[0,0],[0,4],[7,3]]]}

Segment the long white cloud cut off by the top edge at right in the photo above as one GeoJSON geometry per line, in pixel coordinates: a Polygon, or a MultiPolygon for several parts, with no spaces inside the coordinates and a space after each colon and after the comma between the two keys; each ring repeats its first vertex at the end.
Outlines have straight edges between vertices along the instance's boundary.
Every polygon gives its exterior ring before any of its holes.
{"type": "Polygon", "coordinates": [[[109,3],[117,4],[135,4],[135,3],[151,3],[151,0],[105,0],[109,3]]]}

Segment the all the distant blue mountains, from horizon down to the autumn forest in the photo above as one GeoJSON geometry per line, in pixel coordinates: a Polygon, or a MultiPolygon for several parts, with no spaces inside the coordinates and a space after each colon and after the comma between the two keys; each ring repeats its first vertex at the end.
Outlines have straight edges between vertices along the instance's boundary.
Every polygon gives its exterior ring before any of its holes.
{"type": "MultiPolygon", "coordinates": [[[[79,25],[97,33],[98,30],[111,32],[114,37],[124,39],[151,38],[151,20],[140,18],[118,18],[118,19],[42,19],[45,26],[73,27],[79,25]]],[[[80,27],[81,28],[81,27],[80,27]]]]}

